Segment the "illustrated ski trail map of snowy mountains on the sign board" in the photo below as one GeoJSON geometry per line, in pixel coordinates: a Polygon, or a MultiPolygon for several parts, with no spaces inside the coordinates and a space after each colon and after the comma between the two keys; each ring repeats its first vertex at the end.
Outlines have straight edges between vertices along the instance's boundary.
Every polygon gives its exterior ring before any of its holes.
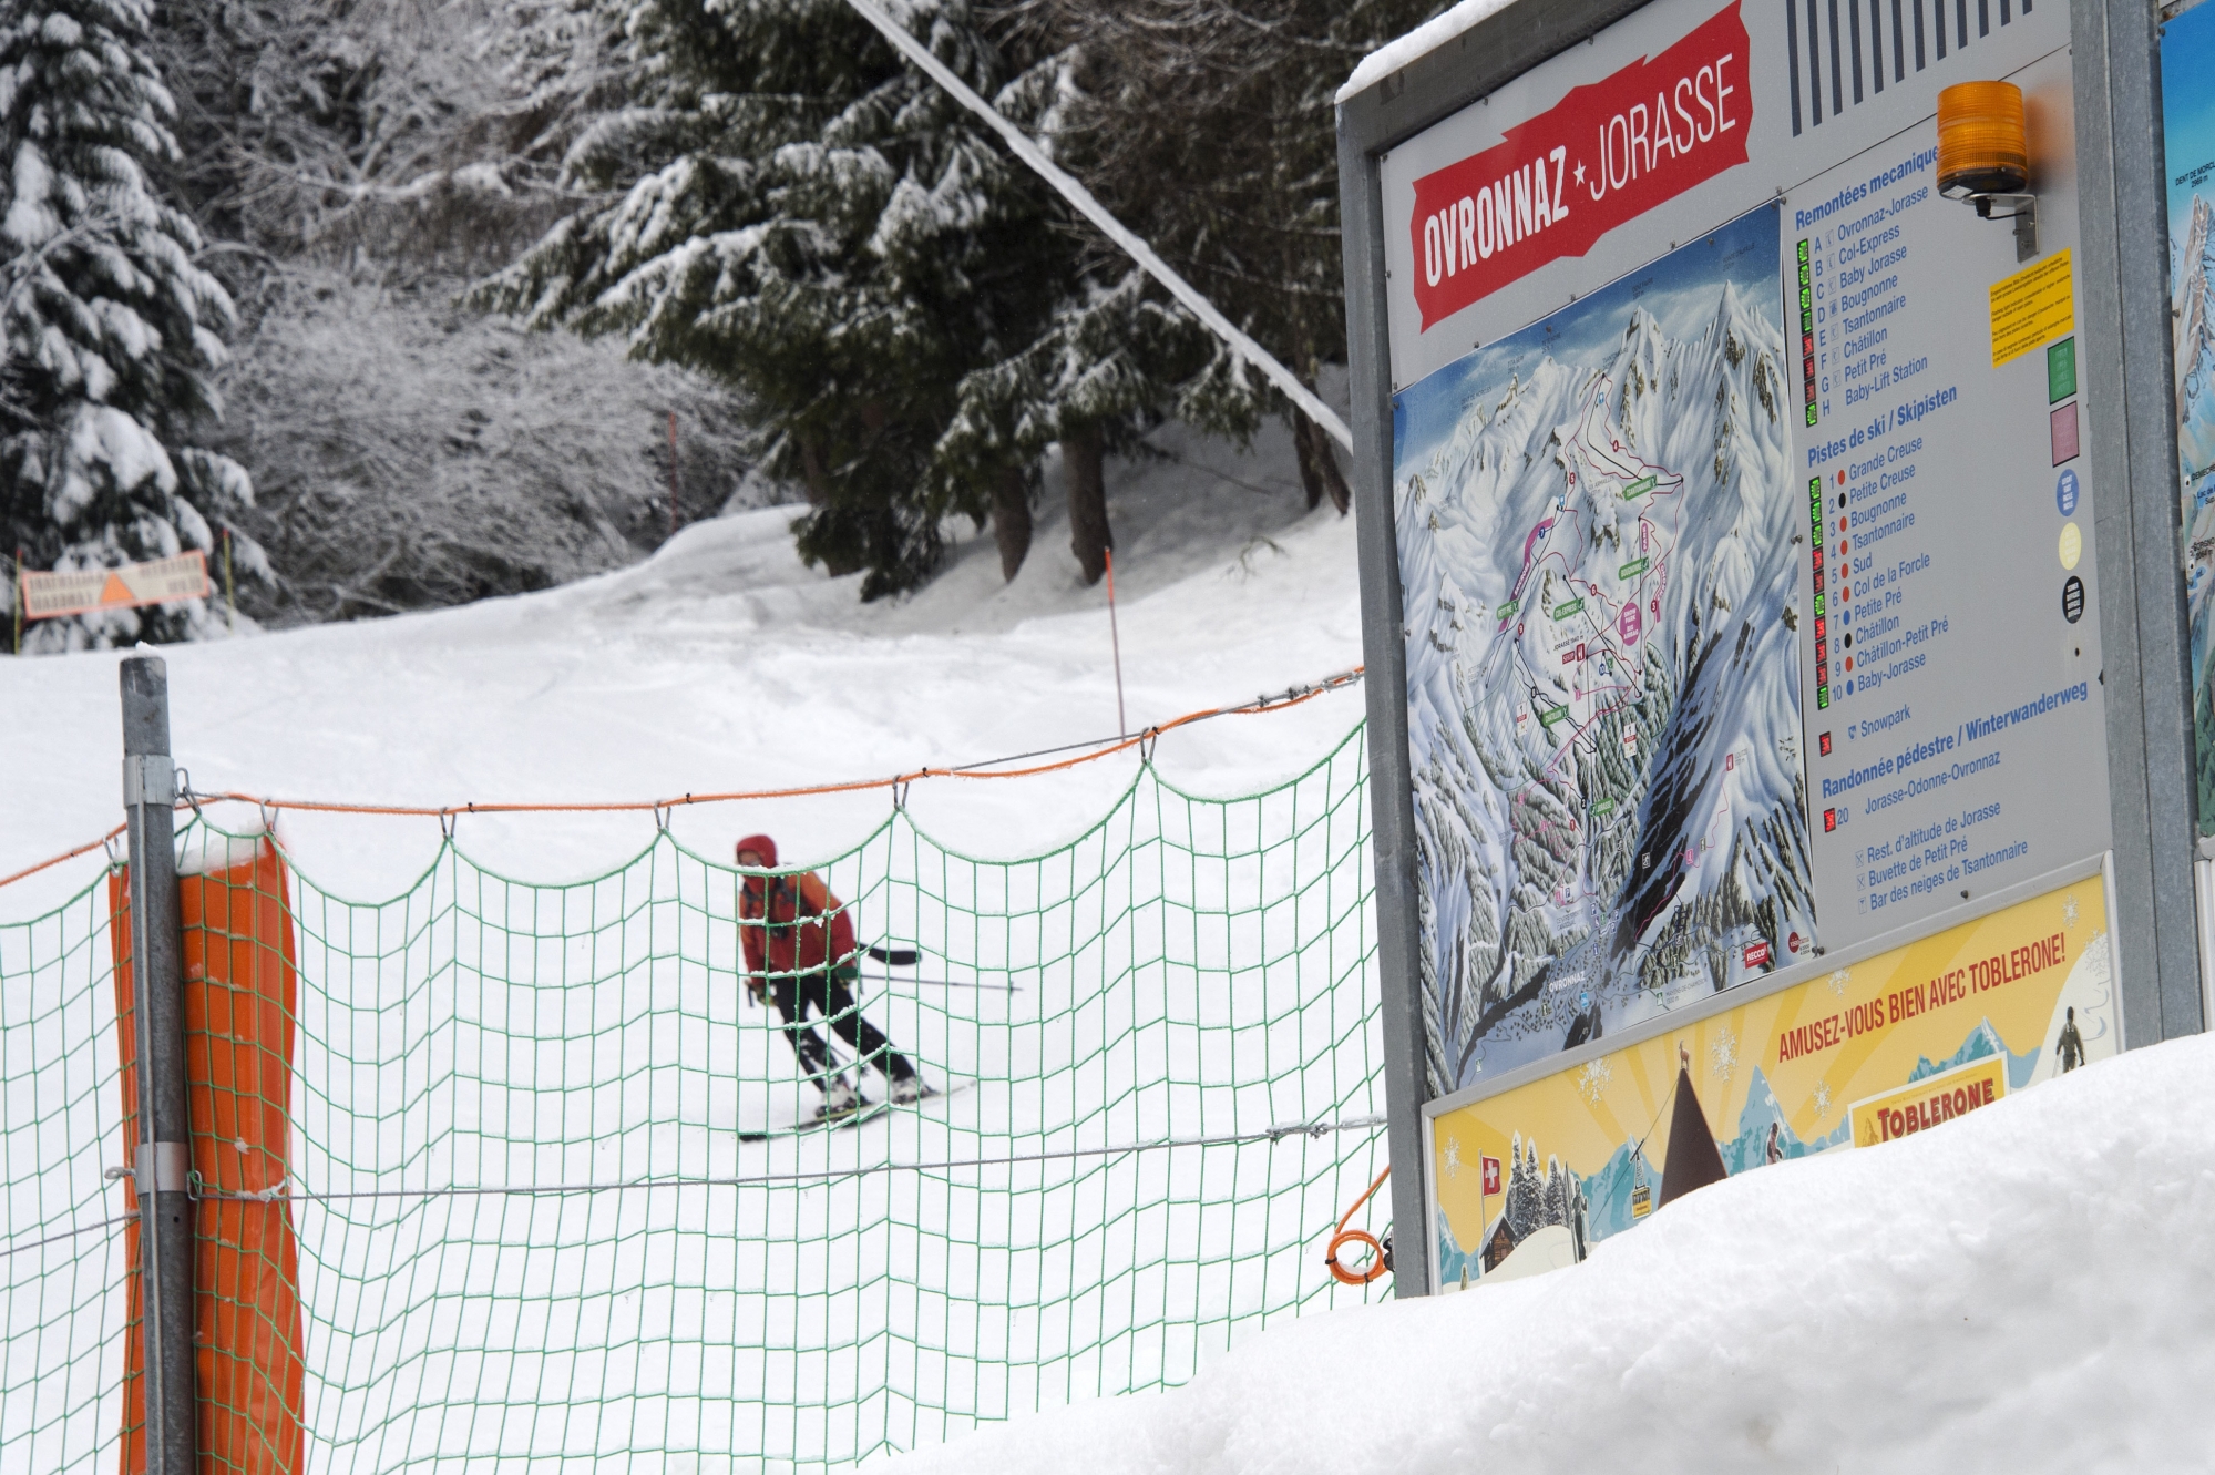
{"type": "Polygon", "coordinates": [[[1393,401],[1431,1087],[1816,946],[1761,208],[1393,401]]]}

